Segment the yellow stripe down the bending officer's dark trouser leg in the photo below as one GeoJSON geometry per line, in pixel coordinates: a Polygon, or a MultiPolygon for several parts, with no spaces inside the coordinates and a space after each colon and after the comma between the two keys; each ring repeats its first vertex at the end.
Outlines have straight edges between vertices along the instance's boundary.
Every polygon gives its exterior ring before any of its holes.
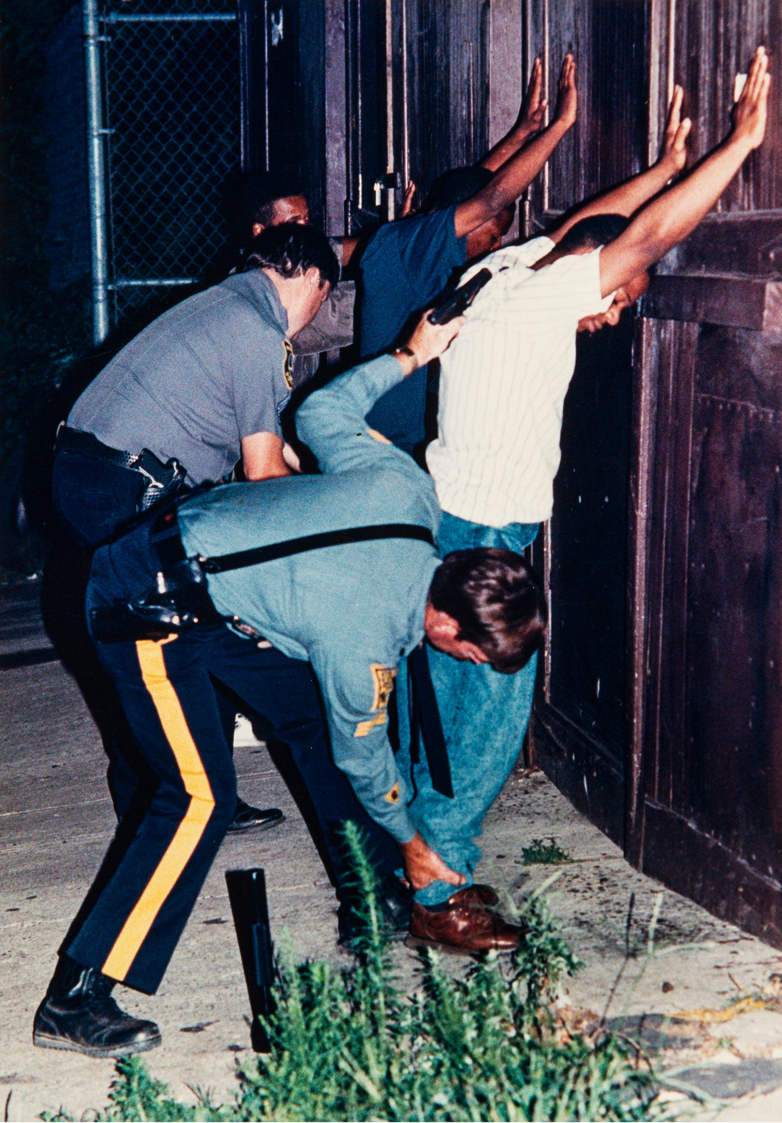
{"type": "Polygon", "coordinates": [[[136,652],[144,685],[152,696],[163,732],[174,754],[184,789],[190,796],[190,805],[103,964],[103,974],[119,982],[129,971],[157,913],[190,861],[215,807],[209,779],[188,729],[180,700],[165,670],[163,645],[175,639],[175,636],[170,636],[163,640],[137,640],[136,652]]]}

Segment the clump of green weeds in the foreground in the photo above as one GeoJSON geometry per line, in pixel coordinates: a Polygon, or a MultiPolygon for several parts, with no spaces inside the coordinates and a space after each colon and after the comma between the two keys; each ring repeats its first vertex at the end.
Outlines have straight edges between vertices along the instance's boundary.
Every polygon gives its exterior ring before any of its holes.
{"type": "MultiPolygon", "coordinates": [[[[419,957],[412,995],[399,985],[380,922],[374,876],[357,832],[347,844],[363,887],[355,961],[280,964],[269,1056],[237,1068],[230,1105],[174,1099],[143,1061],[119,1061],[102,1120],[652,1120],[658,1080],[638,1052],[606,1033],[569,1033],[555,1014],[580,964],[540,892],[506,965],[489,955],[463,977],[419,957]]],[[[65,1119],[66,1116],[48,1116],[65,1119]]]]}

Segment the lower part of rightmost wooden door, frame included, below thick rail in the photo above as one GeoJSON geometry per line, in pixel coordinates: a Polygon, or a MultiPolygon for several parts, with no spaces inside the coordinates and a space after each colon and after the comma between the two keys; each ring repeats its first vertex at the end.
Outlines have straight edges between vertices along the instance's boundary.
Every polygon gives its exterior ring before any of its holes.
{"type": "Polygon", "coordinates": [[[782,946],[782,338],[694,322],[649,331],[646,722],[629,850],[782,946]]]}

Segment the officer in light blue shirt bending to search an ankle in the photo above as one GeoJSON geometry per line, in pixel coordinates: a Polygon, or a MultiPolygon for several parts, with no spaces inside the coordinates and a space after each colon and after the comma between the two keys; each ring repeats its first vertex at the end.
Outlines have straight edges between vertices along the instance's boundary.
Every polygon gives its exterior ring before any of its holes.
{"type": "MultiPolygon", "coordinates": [[[[464,885],[408,813],[411,793],[388,737],[394,676],[410,652],[425,661],[425,638],[457,659],[518,669],[539,641],[545,605],[524,559],[508,550],[440,560],[431,480],[364,420],[458,327],[424,319],[393,356],[309,398],[297,421],[320,476],[215,487],[96,554],[88,604],[99,656],[160,784],[113,875],[63,946],[36,1014],[36,1044],[112,1056],[160,1042],[155,1023],[125,1014],[110,990],[121,982],[155,993],[230,821],[235,777],[210,675],[294,747],[312,789],[317,775],[306,758],[317,760],[327,736],[313,673],[334,759],[365,812],[395,840],[412,888],[464,885]],[[127,620],[127,605],[135,605],[131,622],[143,605],[154,608],[155,588],[167,588],[175,570],[209,574],[215,622],[178,631],[176,615],[157,638],[145,623],[138,638],[109,641],[111,621],[127,620]]],[[[431,688],[425,668],[420,686],[431,688]]],[[[447,760],[435,760],[425,721],[421,728],[433,779],[436,765],[447,786],[447,760]]],[[[335,819],[340,813],[351,818],[337,810],[335,819]]],[[[465,886],[435,910],[413,903],[411,932],[467,951],[512,949],[519,930],[482,901],[482,887],[465,886]]]]}

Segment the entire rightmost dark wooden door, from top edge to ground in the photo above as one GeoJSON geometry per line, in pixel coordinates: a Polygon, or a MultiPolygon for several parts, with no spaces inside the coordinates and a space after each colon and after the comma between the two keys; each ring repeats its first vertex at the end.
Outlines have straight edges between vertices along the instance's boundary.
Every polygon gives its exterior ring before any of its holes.
{"type": "MultiPolygon", "coordinates": [[[[661,69],[685,85],[697,158],[724,135],[757,43],[778,72],[782,13],[691,0],[672,43],[667,27],[661,69]]],[[[778,89],[764,147],[663,263],[638,329],[627,847],[782,947],[779,106],[778,89]]]]}

